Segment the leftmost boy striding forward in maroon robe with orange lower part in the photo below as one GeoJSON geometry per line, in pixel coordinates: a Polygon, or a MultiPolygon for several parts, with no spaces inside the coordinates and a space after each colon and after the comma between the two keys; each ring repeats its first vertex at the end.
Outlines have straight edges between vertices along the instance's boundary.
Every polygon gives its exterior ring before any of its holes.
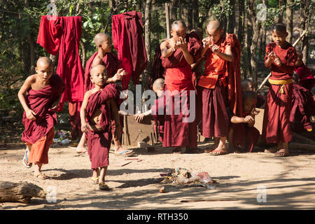
{"type": "Polygon", "coordinates": [[[57,123],[55,110],[59,107],[64,92],[64,82],[53,73],[49,57],[39,57],[35,71],[36,74],[25,80],[18,92],[18,98],[24,109],[25,130],[22,141],[27,145],[27,151],[30,151],[26,155],[27,166],[34,163],[34,176],[45,179],[47,176],[41,173],[41,167],[48,164],[48,150],[55,135],[54,125],[57,123]]]}

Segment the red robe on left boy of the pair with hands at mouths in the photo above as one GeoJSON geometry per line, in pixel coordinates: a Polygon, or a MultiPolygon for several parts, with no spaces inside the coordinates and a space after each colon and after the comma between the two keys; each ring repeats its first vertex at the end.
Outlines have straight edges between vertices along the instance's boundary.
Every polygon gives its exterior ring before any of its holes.
{"type": "MultiPolygon", "coordinates": [[[[186,41],[188,43],[188,52],[194,57],[194,61],[200,58],[201,46],[200,42],[196,38],[193,38],[190,34],[186,34],[186,41]]],[[[187,90],[187,106],[189,108],[189,90],[194,90],[192,71],[190,64],[186,62],[181,49],[177,49],[173,55],[167,58],[162,58],[162,65],[166,69],[165,72],[165,90],[173,92],[178,90],[183,97],[182,90],[187,90]]],[[[172,114],[165,115],[165,132],[163,139],[163,147],[197,147],[197,123],[183,123],[183,118],[189,117],[189,115],[183,115],[182,111],[179,115],[174,114],[174,96],[167,97],[169,100],[166,105],[172,105],[172,114]]],[[[194,99],[193,99],[194,100],[194,99]]],[[[184,104],[183,98],[180,99],[181,104],[184,104]]],[[[175,106],[177,109],[179,105],[175,106]]]]}

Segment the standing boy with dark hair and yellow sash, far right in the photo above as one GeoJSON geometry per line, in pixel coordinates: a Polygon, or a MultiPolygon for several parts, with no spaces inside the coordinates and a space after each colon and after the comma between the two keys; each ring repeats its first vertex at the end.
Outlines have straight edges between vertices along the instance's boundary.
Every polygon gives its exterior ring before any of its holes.
{"type": "Polygon", "coordinates": [[[265,66],[270,68],[269,92],[265,106],[262,136],[267,144],[276,143],[275,156],[288,156],[288,142],[292,140],[289,127],[293,80],[297,54],[286,41],[286,26],[277,23],[272,26],[272,40],[266,46],[265,66]]]}

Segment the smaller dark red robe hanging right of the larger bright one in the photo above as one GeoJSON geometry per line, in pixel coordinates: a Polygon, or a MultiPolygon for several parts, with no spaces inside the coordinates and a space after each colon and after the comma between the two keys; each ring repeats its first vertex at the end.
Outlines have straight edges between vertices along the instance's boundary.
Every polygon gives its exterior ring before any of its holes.
{"type": "Polygon", "coordinates": [[[112,34],[118,59],[127,73],[121,82],[123,90],[127,90],[130,78],[134,85],[138,84],[139,76],[148,64],[141,13],[132,11],[113,15],[112,34]]]}

